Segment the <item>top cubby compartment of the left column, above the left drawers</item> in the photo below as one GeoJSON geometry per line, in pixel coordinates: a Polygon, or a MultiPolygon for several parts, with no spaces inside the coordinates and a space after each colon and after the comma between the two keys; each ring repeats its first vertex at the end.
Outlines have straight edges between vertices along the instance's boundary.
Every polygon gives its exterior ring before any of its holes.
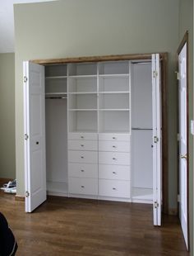
{"type": "Polygon", "coordinates": [[[95,76],[97,75],[96,63],[68,64],[69,76],[95,76]]]}

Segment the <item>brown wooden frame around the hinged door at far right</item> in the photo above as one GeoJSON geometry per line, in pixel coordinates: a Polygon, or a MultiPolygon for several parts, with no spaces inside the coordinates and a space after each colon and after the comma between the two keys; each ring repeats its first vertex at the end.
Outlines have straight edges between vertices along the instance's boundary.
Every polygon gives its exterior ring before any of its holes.
{"type": "MultiPolygon", "coordinates": [[[[178,55],[181,53],[182,48],[184,45],[187,44],[187,245],[188,245],[188,251],[190,251],[190,235],[189,235],[189,109],[188,109],[188,31],[186,31],[185,35],[182,38],[182,41],[180,45],[178,46],[178,51],[177,51],[177,70],[178,70],[178,55]]],[[[178,90],[177,90],[177,98],[178,98],[178,103],[177,103],[177,110],[179,110],[179,96],[178,96],[178,90]]],[[[179,111],[178,111],[178,134],[179,134],[179,111]]],[[[180,179],[180,169],[179,169],[179,144],[178,144],[178,195],[180,192],[180,187],[179,187],[179,179],[180,179]]],[[[178,216],[180,215],[179,212],[179,202],[178,202],[178,216]]]]}

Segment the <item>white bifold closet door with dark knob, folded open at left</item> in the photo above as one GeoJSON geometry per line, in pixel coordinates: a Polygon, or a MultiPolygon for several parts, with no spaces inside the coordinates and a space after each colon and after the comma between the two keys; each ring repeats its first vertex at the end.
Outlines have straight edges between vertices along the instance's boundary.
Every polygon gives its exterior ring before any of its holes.
{"type": "Polygon", "coordinates": [[[24,62],[25,211],[46,200],[44,67],[24,62]]]}

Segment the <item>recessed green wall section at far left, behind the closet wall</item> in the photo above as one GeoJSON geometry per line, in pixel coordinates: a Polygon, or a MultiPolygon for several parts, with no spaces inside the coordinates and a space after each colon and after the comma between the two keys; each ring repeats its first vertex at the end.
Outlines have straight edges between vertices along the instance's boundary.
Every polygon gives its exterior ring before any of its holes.
{"type": "Polygon", "coordinates": [[[0,178],[16,178],[14,58],[0,54],[0,178]]]}

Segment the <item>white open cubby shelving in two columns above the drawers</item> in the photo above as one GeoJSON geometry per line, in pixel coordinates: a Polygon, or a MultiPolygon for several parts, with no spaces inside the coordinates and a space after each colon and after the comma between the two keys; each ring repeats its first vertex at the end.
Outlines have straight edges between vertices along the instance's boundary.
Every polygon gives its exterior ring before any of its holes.
{"type": "Polygon", "coordinates": [[[129,62],[68,66],[69,131],[130,132],[129,62]]]}

